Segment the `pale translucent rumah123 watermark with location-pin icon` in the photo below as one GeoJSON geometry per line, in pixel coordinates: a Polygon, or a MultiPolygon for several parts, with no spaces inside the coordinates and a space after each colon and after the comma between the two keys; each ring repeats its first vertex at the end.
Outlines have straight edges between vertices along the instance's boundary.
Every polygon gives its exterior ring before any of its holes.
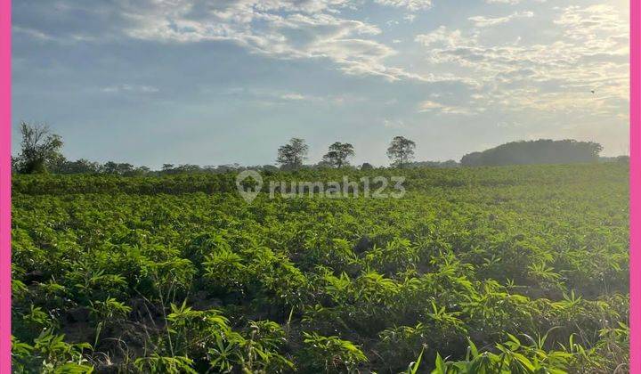
{"type": "MultiPolygon", "coordinates": [[[[280,196],[283,199],[294,198],[372,198],[401,199],[405,195],[404,176],[363,176],[350,180],[344,175],[340,181],[301,182],[269,181],[267,192],[270,199],[280,196]]],[[[240,196],[251,203],[263,190],[263,177],[256,170],[244,170],[236,176],[236,187],[240,196]]]]}

